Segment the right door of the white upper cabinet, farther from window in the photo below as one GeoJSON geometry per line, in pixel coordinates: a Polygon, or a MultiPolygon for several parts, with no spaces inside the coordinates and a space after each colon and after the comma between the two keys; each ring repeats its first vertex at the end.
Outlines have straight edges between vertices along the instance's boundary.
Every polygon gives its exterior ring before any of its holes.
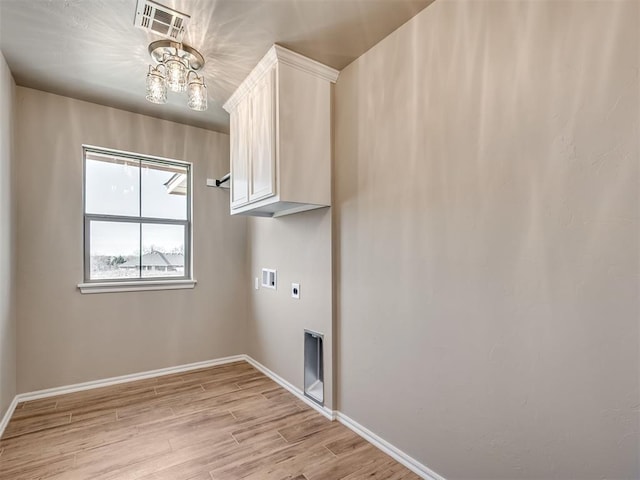
{"type": "Polygon", "coordinates": [[[258,82],[252,94],[252,138],[249,173],[249,201],[275,192],[275,67],[258,82]]]}

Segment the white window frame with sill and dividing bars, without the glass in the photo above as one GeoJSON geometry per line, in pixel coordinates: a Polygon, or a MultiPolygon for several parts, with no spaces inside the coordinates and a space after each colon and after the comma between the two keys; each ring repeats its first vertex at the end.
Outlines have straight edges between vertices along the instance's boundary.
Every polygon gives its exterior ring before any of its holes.
{"type": "MultiPolygon", "coordinates": [[[[142,182],[142,175],[139,177],[142,182]]],[[[140,202],[142,201],[142,188],[139,188],[140,202]]],[[[92,145],[82,145],[82,214],[83,214],[83,283],[78,284],[81,293],[106,293],[106,292],[130,292],[144,290],[175,290],[183,288],[193,288],[196,280],[193,278],[193,223],[192,223],[192,204],[193,204],[193,165],[183,160],[175,160],[171,158],[156,157],[151,155],[143,155],[133,152],[125,152],[122,150],[114,150],[103,147],[95,147],[92,145]],[[185,220],[175,220],[169,218],[143,217],[141,215],[107,215],[93,214],[86,212],[86,171],[87,171],[87,153],[96,153],[99,155],[108,155],[121,158],[130,158],[140,162],[148,162],[159,165],[178,166],[187,169],[187,215],[185,220]],[[183,225],[185,227],[184,239],[184,275],[171,277],[140,277],[140,278],[114,278],[114,279],[98,279],[90,278],[90,240],[91,240],[91,221],[109,221],[122,223],[138,223],[140,228],[143,224],[156,225],[183,225]]],[[[140,235],[142,243],[142,235],[140,235]]],[[[142,268],[142,248],[140,248],[140,268],[142,268]]]]}

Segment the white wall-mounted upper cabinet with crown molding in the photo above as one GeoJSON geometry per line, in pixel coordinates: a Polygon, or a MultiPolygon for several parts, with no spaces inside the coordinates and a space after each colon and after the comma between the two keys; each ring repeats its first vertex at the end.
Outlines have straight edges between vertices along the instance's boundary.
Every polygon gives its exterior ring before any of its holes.
{"type": "Polygon", "coordinates": [[[231,214],[277,217],[331,205],[332,68],[274,45],[224,109],[231,214]]]}

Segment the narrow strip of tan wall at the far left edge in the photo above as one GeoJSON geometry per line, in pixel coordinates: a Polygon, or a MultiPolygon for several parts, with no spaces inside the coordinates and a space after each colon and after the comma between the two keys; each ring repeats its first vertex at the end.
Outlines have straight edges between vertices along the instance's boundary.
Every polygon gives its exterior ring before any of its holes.
{"type": "Polygon", "coordinates": [[[16,394],[15,83],[0,53],[0,419],[16,394]]]}

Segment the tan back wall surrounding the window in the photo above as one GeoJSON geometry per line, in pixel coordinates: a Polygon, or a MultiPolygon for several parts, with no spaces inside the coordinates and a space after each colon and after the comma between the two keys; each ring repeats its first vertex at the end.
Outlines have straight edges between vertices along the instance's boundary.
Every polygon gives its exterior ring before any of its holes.
{"type": "Polygon", "coordinates": [[[18,391],[244,353],[246,219],[228,136],[17,88],[18,391]],[[193,290],[82,295],[82,144],[193,162],[193,290]]]}

